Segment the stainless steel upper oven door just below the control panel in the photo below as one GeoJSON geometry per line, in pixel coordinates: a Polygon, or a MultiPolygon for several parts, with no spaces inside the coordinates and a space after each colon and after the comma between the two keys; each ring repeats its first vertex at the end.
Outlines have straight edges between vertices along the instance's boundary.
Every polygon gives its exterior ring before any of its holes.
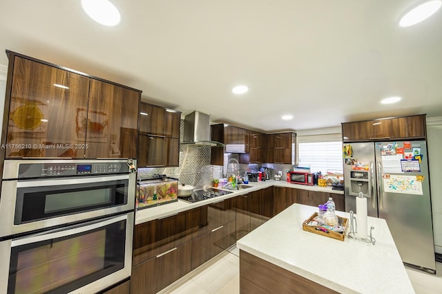
{"type": "Polygon", "coordinates": [[[133,210],[135,174],[3,181],[0,238],[133,210]]]}

